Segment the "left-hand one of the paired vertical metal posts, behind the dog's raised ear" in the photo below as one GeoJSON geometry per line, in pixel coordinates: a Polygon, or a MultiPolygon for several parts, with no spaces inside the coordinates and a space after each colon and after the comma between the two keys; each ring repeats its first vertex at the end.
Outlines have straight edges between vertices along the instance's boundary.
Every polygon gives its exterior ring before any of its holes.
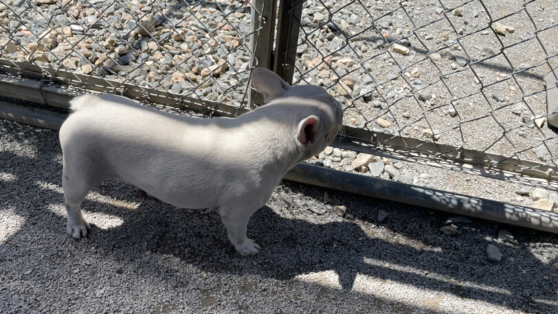
{"type": "MultiPolygon", "coordinates": [[[[277,0],[252,0],[252,67],[272,69],[277,0]]],[[[256,91],[248,93],[249,109],[263,104],[263,97],[256,91]]]]}

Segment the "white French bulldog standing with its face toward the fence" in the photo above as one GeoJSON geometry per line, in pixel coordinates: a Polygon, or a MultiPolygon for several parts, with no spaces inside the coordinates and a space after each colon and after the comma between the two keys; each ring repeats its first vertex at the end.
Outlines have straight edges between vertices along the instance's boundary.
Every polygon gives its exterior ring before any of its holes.
{"type": "Polygon", "coordinates": [[[290,168],[331,143],[343,111],[322,87],[291,87],[267,69],[254,69],[252,87],[265,106],[235,118],[173,115],[109,94],[71,100],[60,128],[67,232],[87,236],[81,203],[96,183],[120,179],[177,208],[219,208],[236,251],[257,254],[250,216],[290,168]]]}

